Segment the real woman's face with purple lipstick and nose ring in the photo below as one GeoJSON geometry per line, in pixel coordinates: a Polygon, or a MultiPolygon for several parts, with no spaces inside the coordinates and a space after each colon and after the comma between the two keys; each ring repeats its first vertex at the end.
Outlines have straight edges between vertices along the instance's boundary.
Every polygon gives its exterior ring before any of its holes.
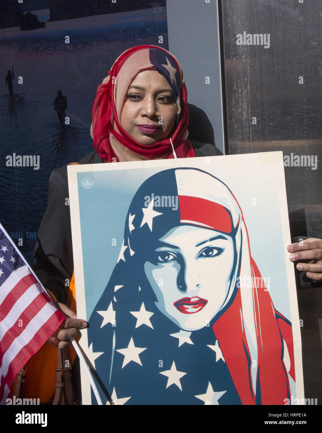
{"type": "Polygon", "coordinates": [[[166,78],[158,71],[143,71],[137,74],[127,91],[120,125],[137,142],[152,145],[170,135],[177,112],[166,78]]]}

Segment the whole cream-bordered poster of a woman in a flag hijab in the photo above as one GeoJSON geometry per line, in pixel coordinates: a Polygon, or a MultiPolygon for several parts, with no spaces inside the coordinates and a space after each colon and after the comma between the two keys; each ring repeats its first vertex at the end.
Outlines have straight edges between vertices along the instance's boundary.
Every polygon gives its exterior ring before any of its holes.
{"type": "Polygon", "coordinates": [[[281,152],[75,165],[68,184],[80,345],[115,404],[304,397],[281,152]]]}

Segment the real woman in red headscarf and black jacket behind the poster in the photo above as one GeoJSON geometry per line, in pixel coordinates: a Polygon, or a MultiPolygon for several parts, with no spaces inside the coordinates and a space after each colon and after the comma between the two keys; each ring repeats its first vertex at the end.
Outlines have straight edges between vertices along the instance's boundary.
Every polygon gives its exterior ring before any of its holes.
{"type": "MultiPolygon", "coordinates": [[[[182,70],[176,58],[160,47],[141,45],[117,58],[98,86],[92,120],[95,151],[79,164],[221,154],[215,146],[187,139],[189,113],[182,70]]],[[[34,270],[53,299],[75,310],[74,292],[68,291],[70,283],[74,287],[68,197],[65,166],[54,170],[49,180],[49,202],[38,231],[34,270]]],[[[302,248],[295,245],[293,248],[302,248]]],[[[303,254],[302,259],[309,258],[303,254]]],[[[304,270],[317,272],[312,266],[318,265],[304,266],[311,266],[304,270]]],[[[72,328],[68,338],[76,334],[77,328],[72,328]]],[[[53,341],[59,347],[66,344],[68,339],[58,335],[53,341]]]]}

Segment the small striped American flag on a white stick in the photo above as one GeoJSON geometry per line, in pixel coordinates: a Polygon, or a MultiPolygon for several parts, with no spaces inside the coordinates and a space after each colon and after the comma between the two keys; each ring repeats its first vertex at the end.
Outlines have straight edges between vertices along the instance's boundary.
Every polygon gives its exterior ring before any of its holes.
{"type": "Polygon", "coordinates": [[[0,404],[19,370],[65,320],[0,224],[0,404]]]}

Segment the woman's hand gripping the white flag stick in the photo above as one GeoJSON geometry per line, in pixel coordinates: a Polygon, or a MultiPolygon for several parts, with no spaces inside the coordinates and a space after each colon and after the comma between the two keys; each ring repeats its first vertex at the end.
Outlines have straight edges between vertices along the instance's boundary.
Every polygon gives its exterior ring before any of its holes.
{"type": "Polygon", "coordinates": [[[52,340],[52,345],[59,349],[64,349],[71,344],[70,339],[78,334],[79,329],[88,327],[88,323],[83,319],[78,319],[74,311],[67,307],[65,304],[53,301],[56,307],[61,310],[67,319],[57,328],[48,341],[52,340]],[[55,337],[55,339],[52,339],[55,337]]]}

